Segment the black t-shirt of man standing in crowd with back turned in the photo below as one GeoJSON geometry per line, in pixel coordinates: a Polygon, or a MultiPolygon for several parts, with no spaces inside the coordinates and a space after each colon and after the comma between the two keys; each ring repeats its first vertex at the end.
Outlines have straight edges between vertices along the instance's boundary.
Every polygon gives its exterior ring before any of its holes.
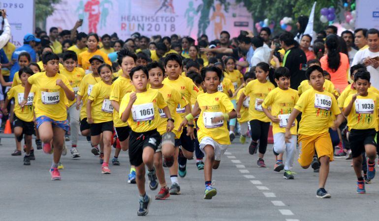
{"type": "MultiPolygon", "coordinates": [[[[297,90],[300,83],[307,79],[305,76],[307,56],[304,51],[297,46],[288,49],[288,51],[289,53],[285,58],[284,67],[288,68],[291,74],[291,88],[297,90]]],[[[286,51],[286,53],[288,51],[286,51]]]]}

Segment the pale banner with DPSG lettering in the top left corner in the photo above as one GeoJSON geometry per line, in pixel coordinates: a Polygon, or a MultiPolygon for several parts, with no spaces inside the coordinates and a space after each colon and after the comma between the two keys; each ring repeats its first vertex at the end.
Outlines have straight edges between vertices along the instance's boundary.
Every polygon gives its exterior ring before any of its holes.
{"type": "Polygon", "coordinates": [[[12,34],[10,42],[16,48],[22,46],[25,34],[34,33],[34,0],[0,0],[0,9],[6,10],[12,34]]]}

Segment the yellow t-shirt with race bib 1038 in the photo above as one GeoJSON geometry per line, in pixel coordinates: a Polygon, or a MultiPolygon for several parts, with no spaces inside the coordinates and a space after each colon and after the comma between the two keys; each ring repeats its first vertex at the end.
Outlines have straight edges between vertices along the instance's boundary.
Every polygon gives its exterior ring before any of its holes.
{"type": "MultiPolygon", "coordinates": [[[[349,105],[353,94],[347,96],[344,104],[344,109],[349,105]]],[[[378,117],[378,102],[379,95],[377,93],[368,92],[366,97],[357,96],[347,116],[347,126],[349,131],[375,129],[378,131],[379,117],[378,117]]]]}

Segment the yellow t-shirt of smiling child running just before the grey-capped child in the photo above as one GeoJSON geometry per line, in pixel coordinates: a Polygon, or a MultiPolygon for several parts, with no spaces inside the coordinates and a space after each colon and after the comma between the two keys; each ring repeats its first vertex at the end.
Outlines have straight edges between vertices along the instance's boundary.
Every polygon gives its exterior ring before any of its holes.
{"type": "Polygon", "coordinates": [[[109,100],[111,87],[111,85],[100,81],[94,85],[90,96],[88,96],[88,99],[93,101],[91,115],[95,124],[113,121],[113,107],[109,100]]]}

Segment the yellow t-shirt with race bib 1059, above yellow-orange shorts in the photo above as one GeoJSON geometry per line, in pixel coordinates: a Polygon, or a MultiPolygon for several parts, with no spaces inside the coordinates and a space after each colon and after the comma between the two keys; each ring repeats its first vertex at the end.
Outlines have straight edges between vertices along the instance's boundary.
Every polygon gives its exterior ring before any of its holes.
{"type": "Polygon", "coordinates": [[[330,116],[341,113],[333,94],[313,88],[301,94],[294,108],[303,112],[298,134],[307,136],[327,133],[330,116]]]}

